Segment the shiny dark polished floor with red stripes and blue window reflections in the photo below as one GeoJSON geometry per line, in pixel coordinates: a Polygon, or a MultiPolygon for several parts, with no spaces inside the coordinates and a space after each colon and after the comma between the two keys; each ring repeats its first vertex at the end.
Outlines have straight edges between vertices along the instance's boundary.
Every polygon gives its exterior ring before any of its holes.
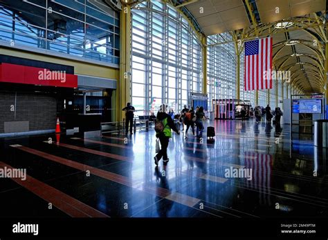
{"type": "Polygon", "coordinates": [[[253,119],[209,124],[214,141],[174,133],[170,162],[159,168],[152,129],[127,139],[0,139],[0,168],[28,174],[26,181],[0,179],[1,217],[328,216],[327,152],[313,146],[311,135],[291,140],[289,126],[253,119]],[[226,177],[231,168],[251,169],[251,180],[226,177]]]}

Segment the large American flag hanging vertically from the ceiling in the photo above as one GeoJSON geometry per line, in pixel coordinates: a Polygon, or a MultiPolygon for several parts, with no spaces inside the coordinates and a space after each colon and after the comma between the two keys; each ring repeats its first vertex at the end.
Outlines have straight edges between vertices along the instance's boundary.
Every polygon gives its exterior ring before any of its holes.
{"type": "Polygon", "coordinates": [[[271,89],[272,37],[245,43],[244,86],[247,90],[271,89]]]}

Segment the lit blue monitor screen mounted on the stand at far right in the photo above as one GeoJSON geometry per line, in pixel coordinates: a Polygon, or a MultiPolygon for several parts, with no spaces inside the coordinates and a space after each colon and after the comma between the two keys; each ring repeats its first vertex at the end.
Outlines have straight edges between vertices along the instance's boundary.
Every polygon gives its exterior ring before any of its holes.
{"type": "Polygon", "coordinates": [[[322,113],[322,99],[293,99],[293,113],[322,113]]]}

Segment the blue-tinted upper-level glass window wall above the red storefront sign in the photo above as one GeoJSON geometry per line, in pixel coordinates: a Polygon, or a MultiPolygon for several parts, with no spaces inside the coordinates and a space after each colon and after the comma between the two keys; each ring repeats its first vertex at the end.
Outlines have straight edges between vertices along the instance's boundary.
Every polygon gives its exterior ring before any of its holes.
{"type": "Polygon", "coordinates": [[[0,40],[119,63],[119,14],[96,0],[0,1],[0,40]]]}

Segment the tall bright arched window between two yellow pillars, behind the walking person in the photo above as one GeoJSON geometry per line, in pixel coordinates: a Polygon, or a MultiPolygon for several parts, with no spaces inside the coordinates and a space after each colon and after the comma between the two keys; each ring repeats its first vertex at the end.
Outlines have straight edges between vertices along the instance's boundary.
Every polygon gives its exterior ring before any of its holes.
{"type": "Polygon", "coordinates": [[[201,44],[188,21],[169,4],[140,3],[132,10],[131,99],[137,114],[167,103],[174,112],[201,92],[201,44]]]}

